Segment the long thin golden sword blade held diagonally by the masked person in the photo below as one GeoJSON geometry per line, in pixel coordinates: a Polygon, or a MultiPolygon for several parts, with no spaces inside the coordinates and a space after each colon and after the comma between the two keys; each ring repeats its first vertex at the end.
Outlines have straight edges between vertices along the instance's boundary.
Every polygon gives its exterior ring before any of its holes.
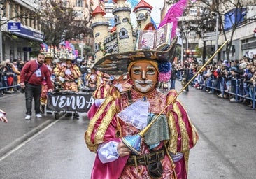
{"type": "Polygon", "coordinates": [[[173,99],[164,107],[164,109],[157,115],[157,117],[155,117],[155,119],[152,120],[152,121],[150,122],[150,124],[148,124],[147,127],[145,127],[140,133],[138,133],[138,135],[140,135],[141,137],[143,137],[143,136],[145,135],[145,133],[148,131],[148,129],[150,129],[150,127],[152,126],[152,124],[158,119],[158,117],[159,117],[162,113],[164,113],[164,110],[166,110],[166,108],[168,108],[168,106],[169,106],[171,103],[173,103],[173,101],[175,101],[175,100],[177,99],[178,95],[180,95],[180,94],[183,92],[183,90],[185,90],[185,88],[186,88],[188,85],[190,85],[190,83],[192,82],[192,80],[194,80],[194,78],[197,77],[197,75],[206,67],[206,65],[211,62],[211,60],[213,59],[213,57],[215,57],[215,55],[218,54],[218,52],[226,45],[226,43],[227,43],[228,41],[229,41],[229,40],[225,41],[225,43],[223,43],[223,44],[220,46],[220,48],[215,51],[215,53],[213,54],[213,56],[211,56],[211,58],[209,58],[209,59],[207,60],[207,62],[206,62],[203,66],[201,66],[201,68],[199,69],[199,71],[197,71],[197,73],[194,74],[194,76],[189,80],[189,82],[187,82],[187,84],[180,90],[180,92],[178,92],[178,94],[173,97],[173,99]]]}

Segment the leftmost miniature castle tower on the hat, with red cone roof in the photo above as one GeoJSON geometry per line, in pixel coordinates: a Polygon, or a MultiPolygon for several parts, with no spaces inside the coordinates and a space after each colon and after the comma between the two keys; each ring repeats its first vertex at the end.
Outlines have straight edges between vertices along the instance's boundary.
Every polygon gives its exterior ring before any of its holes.
{"type": "Polygon", "coordinates": [[[105,55],[105,48],[104,48],[104,38],[108,36],[108,20],[104,17],[106,15],[105,11],[102,10],[100,6],[97,6],[95,10],[92,12],[92,29],[93,29],[93,36],[94,36],[94,55],[95,55],[95,62],[101,57],[105,55]]]}

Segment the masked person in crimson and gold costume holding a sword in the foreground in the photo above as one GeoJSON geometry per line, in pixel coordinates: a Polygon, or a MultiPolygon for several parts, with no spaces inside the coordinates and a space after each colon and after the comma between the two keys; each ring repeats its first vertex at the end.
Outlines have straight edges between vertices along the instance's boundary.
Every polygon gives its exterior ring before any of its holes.
{"type": "MultiPolygon", "coordinates": [[[[135,59],[134,56],[129,60],[135,59]]],[[[128,66],[133,84],[130,92],[120,94],[113,89],[90,120],[85,142],[91,151],[97,152],[92,178],[187,178],[187,159],[190,148],[197,142],[197,131],[179,100],[169,104],[176,96],[176,90],[170,90],[167,94],[157,92],[157,62],[163,59],[152,56],[138,56],[136,60],[131,60],[128,66]],[[148,120],[159,114],[166,105],[168,107],[162,113],[161,120],[155,124],[155,133],[152,132],[142,141],[141,155],[135,155],[121,138],[138,134],[148,120]],[[150,161],[150,157],[155,162],[150,161]],[[152,165],[143,159],[155,164],[160,172],[154,173],[150,169],[152,165]],[[119,167],[113,170],[114,166],[119,167]]]]}

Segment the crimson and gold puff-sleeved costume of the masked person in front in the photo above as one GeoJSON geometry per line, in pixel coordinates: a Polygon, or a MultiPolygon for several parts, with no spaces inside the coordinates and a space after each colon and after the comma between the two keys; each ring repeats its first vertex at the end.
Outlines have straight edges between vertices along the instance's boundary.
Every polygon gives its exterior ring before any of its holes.
{"type": "MultiPolygon", "coordinates": [[[[121,141],[120,138],[123,136],[135,135],[139,132],[132,124],[125,123],[117,117],[117,114],[128,106],[127,93],[120,95],[114,88],[112,90],[112,94],[106,98],[97,113],[92,117],[85,133],[87,147],[94,152],[97,152],[97,147],[101,143],[121,141]]],[[[176,94],[175,90],[169,91],[166,95],[157,92],[157,90],[147,94],[146,98],[150,101],[150,112],[159,113],[176,94]]],[[[141,100],[145,94],[131,90],[131,96],[132,101],[136,101],[141,100]]],[[[169,155],[165,155],[161,161],[163,166],[162,178],[167,176],[168,178],[175,178],[176,176],[177,178],[186,178],[189,150],[197,143],[197,130],[191,124],[185,108],[178,100],[166,108],[164,115],[166,115],[169,125],[170,139],[161,141],[153,150],[159,150],[166,145],[166,149],[173,154],[182,152],[183,158],[175,162],[176,167],[174,169],[169,155]],[[175,173],[173,172],[174,170],[175,173]]],[[[141,153],[142,155],[150,153],[148,146],[144,142],[141,143],[141,153]]],[[[126,165],[128,157],[118,157],[117,160],[106,164],[101,163],[99,157],[96,157],[92,178],[143,178],[143,176],[147,176],[146,166],[126,165]]]]}

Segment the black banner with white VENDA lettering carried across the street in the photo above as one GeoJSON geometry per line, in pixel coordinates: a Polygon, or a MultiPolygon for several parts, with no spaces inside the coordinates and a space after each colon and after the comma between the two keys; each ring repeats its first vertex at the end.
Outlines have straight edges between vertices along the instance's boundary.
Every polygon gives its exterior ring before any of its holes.
{"type": "Polygon", "coordinates": [[[87,113],[93,103],[92,92],[53,92],[47,98],[48,108],[56,112],[87,113]]]}

